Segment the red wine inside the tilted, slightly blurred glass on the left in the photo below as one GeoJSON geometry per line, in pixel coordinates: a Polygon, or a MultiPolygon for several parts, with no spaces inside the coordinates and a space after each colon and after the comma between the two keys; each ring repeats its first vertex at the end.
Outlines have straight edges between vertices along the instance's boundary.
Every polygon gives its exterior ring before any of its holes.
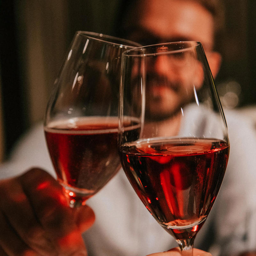
{"type": "Polygon", "coordinates": [[[52,122],[45,128],[58,180],[73,203],[95,194],[121,167],[117,125],[116,117],[82,117],[52,122]]]}

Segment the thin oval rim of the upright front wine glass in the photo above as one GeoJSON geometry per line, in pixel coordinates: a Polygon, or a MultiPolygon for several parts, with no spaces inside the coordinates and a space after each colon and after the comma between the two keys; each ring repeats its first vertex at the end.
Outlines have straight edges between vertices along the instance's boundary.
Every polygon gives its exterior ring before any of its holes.
{"type": "Polygon", "coordinates": [[[127,51],[124,51],[122,53],[123,56],[131,56],[131,57],[145,57],[145,56],[156,56],[156,55],[162,55],[162,54],[170,54],[170,53],[179,53],[179,52],[184,52],[184,51],[188,51],[189,49],[193,49],[197,46],[201,46],[202,47],[202,43],[199,41],[177,41],[177,42],[168,42],[168,43],[162,43],[162,44],[150,44],[150,45],[145,45],[145,46],[141,46],[141,47],[136,47],[136,48],[132,48],[129,49],[127,51]],[[195,45],[189,45],[185,48],[182,49],[178,49],[178,50],[171,50],[171,51],[165,51],[165,52],[150,52],[150,53],[141,53],[141,54],[132,54],[135,51],[142,51],[143,49],[147,49],[150,47],[157,47],[157,46],[165,46],[165,45],[172,45],[172,44],[184,44],[184,43],[193,43],[195,45]]]}

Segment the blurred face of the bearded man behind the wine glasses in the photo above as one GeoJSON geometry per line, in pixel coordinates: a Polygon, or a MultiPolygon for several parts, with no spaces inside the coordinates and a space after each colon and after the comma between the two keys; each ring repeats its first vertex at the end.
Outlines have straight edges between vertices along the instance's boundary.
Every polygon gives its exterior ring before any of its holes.
{"type": "MultiPolygon", "coordinates": [[[[213,17],[196,2],[187,0],[141,1],[138,19],[138,23],[132,26],[129,36],[132,41],[143,45],[200,41],[206,52],[212,49],[213,17]]],[[[155,82],[149,83],[150,90],[146,95],[146,100],[150,102],[150,111],[154,109],[154,114],[158,118],[166,117],[168,113],[171,115],[177,111],[191,99],[194,92],[195,77],[193,76],[195,73],[193,70],[179,72],[179,67],[177,67],[177,71],[170,72],[170,67],[166,63],[163,58],[154,66],[152,65],[151,76],[155,82]],[[156,81],[156,77],[161,77],[162,82],[156,81]]],[[[172,70],[175,69],[172,68],[172,70]]]]}

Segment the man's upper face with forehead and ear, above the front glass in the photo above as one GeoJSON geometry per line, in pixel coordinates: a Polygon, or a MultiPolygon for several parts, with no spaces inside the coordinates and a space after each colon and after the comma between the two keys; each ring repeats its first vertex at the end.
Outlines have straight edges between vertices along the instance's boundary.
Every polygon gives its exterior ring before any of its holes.
{"type": "Polygon", "coordinates": [[[208,10],[193,0],[148,0],[145,3],[139,0],[135,9],[138,11],[134,13],[140,19],[133,17],[128,20],[129,25],[124,24],[130,40],[143,45],[199,41],[203,44],[212,75],[217,75],[221,55],[212,50],[214,21],[208,10]],[[134,24],[133,20],[138,22],[134,24]]]}

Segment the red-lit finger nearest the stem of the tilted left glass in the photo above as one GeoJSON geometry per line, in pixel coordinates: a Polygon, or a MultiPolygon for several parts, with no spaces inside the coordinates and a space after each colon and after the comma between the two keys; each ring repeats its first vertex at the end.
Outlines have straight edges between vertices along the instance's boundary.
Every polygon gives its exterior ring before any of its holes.
{"type": "Polygon", "coordinates": [[[85,255],[86,249],[60,184],[43,170],[32,169],[20,177],[22,187],[58,255],[85,255]]]}

